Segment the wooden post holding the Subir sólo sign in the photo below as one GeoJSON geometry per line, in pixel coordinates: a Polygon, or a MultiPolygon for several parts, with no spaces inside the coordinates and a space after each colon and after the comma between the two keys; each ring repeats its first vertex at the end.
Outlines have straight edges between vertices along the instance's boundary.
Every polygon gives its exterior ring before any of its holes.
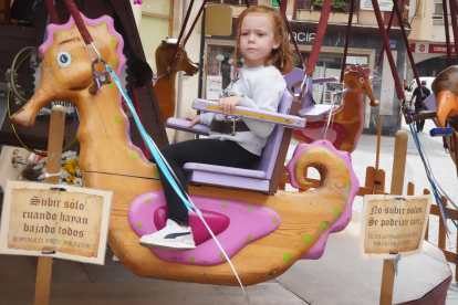
{"type": "MultiPolygon", "coordinates": [[[[62,146],[65,128],[65,109],[54,106],[51,111],[50,136],[48,143],[46,173],[60,173],[62,162],[62,146]]],[[[59,176],[46,177],[46,183],[59,183],[59,176]]],[[[35,284],[35,305],[50,303],[52,257],[39,256],[35,284]]]]}

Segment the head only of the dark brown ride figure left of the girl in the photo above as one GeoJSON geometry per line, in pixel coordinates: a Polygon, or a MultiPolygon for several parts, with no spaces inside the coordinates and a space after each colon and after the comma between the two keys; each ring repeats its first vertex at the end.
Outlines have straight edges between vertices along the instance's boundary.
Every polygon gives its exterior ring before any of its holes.
{"type": "MultiPolygon", "coordinates": [[[[174,54],[174,49],[176,44],[176,39],[167,38],[166,40],[163,40],[159,46],[157,46],[156,65],[158,75],[163,75],[167,72],[168,63],[170,62],[171,55],[174,54]]],[[[170,73],[177,73],[179,71],[186,72],[186,74],[188,74],[189,76],[192,76],[199,71],[199,65],[197,63],[191,62],[188,59],[188,54],[186,53],[183,42],[180,42],[178,46],[175,60],[170,67],[170,73]]]]}

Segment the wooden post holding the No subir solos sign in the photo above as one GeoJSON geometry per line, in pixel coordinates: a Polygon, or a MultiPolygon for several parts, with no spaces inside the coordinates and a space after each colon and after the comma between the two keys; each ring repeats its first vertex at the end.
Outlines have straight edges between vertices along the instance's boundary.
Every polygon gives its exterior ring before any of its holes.
{"type": "MultiPolygon", "coordinates": [[[[393,160],[393,176],[392,176],[392,194],[403,194],[404,172],[406,167],[408,135],[406,132],[399,130],[396,134],[394,160],[393,160]]],[[[393,288],[394,288],[394,266],[392,260],[383,261],[383,275],[381,288],[381,305],[393,304],[393,288]]]]}

